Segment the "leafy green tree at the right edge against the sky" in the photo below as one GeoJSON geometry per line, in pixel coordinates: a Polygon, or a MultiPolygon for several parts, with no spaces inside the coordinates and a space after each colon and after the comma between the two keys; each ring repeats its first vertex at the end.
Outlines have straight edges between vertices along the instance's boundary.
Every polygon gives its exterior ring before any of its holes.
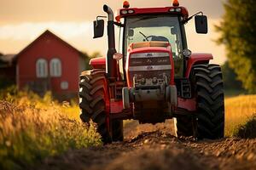
{"type": "Polygon", "coordinates": [[[250,93],[256,92],[256,1],[227,0],[225,14],[216,30],[224,44],[230,67],[250,93]]]}

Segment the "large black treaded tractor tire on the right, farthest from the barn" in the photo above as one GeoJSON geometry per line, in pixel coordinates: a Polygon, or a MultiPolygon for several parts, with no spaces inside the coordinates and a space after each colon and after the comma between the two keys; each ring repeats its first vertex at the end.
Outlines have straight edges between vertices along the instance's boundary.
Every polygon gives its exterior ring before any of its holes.
{"type": "Polygon", "coordinates": [[[224,138],[224,82],[219,65],[195,65],[191,82],[197,100],[196,137],[224,138]]]}

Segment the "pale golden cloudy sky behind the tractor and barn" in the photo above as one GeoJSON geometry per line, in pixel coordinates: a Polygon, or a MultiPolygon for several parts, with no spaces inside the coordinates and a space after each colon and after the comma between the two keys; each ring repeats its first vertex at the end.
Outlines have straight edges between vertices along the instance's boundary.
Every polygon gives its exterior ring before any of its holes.
{"type": "MultiPolygon", "coordinates": [[[[171,0],[130,0],[131,7],[167,7],[171,0]]],[[[113,11],[121,8],[123,0],[0,0],[0,52],[17,54],[45,30],[54,32],[80,51],[106,54],[107,38],[93,39],[92,21],[104,15],[102,5],[113,11]]],[[[189,14],[203,11],[208,17],[209,33],[195,33],[195,22],[186,25],[189,49],[193,53],[212,53],[215,63],[226,59],[223,46],[214,42],[218,25],[224,14],[224,0],[180,0],[189,14]]]]}

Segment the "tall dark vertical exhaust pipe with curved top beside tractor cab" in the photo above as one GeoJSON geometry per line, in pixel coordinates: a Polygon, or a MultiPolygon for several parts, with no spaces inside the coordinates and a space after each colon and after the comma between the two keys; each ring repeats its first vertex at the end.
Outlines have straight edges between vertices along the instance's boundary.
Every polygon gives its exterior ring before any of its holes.
{"type": "Polygon", "coordinates": [[[108,78],[117,78],[117,64],[116,60],[113,59],[113,54],[116,54],[115,49],[115,38],[114,38],[114,21],[113,21],[113,10],[108,5],[103,6],[104,12],[108,14],[108,54],[106,62],[106,71],[108,78]]]}

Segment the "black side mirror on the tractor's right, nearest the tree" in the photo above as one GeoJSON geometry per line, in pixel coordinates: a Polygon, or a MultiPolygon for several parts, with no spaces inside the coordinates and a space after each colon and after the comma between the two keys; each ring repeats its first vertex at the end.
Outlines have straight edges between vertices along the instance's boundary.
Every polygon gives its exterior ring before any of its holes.
{"type": "Polygon", "coordinates": [[[207,16],[205,16],[205,15],[196,15],[195,16],[195,30],[199,34],[207,34],[208,33],[207,16]]]}

